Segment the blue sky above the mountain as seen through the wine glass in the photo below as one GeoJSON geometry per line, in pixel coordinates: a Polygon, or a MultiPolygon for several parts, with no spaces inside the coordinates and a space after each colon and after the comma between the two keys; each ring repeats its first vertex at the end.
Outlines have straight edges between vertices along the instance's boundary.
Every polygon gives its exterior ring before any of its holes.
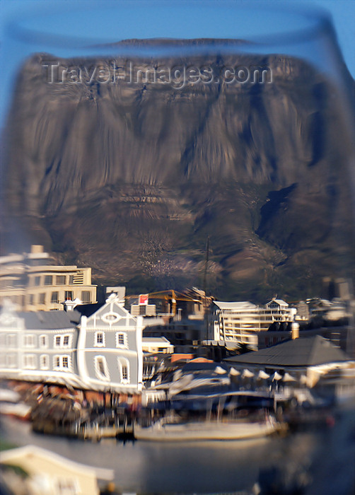
{"type": "MultiPolygon", "coordinates": [[[[34,2],[35,3],[35,2],[34,2]]],[[[34,4],[28,2],[28,4],[34,4]]],[[[330,14],[318,6],[294,2],[232,0],[96,0],[46,2],[24,8],[5,25],[3,100],[6,116],[12,81],[21,64],[36,52],[54,57],[170,57],[204,54],[286,54],[307,57],[342,88],[344,61],[330,14]],[[91,33],[89,36],[87,33],[91,33]],[[98,35],[99,33],[99,35],[98,35]],[[154,45],[117,45],[127,39],[157,39],[154,45]],[[166,40],[208,38],[243,40],[238,45],[204,42],[173,47],[166,40]],[[305,44],[307,48],[305,49],[305,44]],[[10,49],[8,47],[10,45],[10,49]]]]}

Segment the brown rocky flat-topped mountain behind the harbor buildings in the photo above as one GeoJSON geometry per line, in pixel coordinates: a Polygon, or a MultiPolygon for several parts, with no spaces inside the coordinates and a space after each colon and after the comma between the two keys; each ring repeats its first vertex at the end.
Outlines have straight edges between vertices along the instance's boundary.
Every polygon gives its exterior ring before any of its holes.
{"type": "Polygon", "coordinates": [[[132,291],[202,286],[207,236],[220,298],[313,296],[323,276],[349,274],[351,136],[324,76],[281,56],[134,60],[272,71],[272,82],[177,88],[90,81],[123,59],[62,59],[89,67],[86,80],[62,82],[60,69],[49,83],[43,65],[57,60],[26,62],[8,117],[8,246],[44,242],[132,291]]]}

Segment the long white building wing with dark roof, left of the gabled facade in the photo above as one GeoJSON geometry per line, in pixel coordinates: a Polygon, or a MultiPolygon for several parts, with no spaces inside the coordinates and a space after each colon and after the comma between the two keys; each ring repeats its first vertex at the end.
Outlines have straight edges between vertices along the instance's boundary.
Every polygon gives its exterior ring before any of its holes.
{"type": "Polygon", "coordinates": [[[65,311],[0,313],[0,376],[81,385],[76,367],[78,329],[65,311]]]}

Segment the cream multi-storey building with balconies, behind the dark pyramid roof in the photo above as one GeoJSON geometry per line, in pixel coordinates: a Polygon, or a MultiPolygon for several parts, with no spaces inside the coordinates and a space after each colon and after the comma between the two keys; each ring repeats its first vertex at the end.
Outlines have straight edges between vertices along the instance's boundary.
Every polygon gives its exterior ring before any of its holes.
{"type": "Polygon", "coordinates": [[[281,299],[272,299],[264,307],[249,303],[214,301],[212,325],[215,341],[238,342],[257,349],[257,334],[274,322],[293,322],[296,309],[281,299]]]}

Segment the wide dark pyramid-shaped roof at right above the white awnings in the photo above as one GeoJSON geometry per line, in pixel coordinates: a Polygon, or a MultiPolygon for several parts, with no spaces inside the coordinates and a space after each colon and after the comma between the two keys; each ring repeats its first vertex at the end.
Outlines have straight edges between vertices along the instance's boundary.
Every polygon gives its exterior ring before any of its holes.
{"type": "Polygon", "coordinates": [[[349,357],[329,340],[315,335],[280,342],[267,349],[224,359],[228,363],[271,366],[317,366],[349,361],[349,357]]]}

